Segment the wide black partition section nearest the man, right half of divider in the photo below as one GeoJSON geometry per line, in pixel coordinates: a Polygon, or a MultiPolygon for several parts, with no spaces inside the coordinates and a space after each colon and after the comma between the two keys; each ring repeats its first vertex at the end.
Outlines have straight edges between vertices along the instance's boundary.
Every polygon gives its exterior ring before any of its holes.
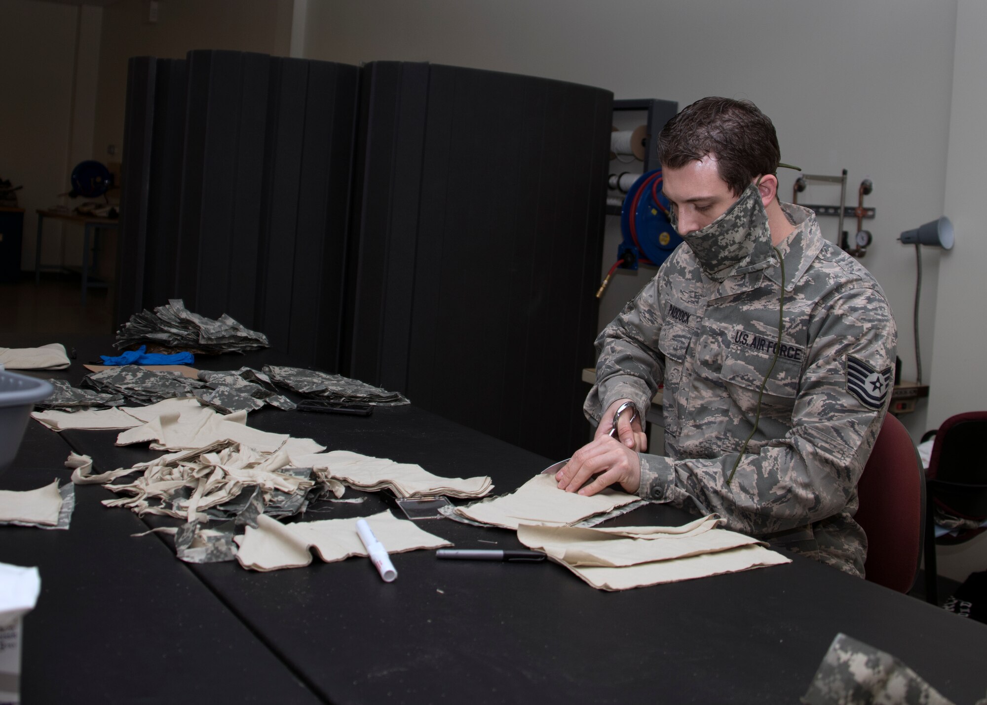
{"type": "Polygon", "coordinates": [[[344,366],[551,457],[586,438],[612,95],[363,69],[344,366]]]}

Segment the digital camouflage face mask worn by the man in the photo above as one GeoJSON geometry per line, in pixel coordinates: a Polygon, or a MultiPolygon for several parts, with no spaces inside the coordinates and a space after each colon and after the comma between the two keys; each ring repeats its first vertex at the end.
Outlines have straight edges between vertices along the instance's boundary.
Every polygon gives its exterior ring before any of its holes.
{"type": "MultiPolygon", "coordinates": [[[[677,218],[671,218],[678,229],[677,218]]],[[[682,233],[682,239],[699,260],[703,273],[722,281],[750,257],[759,239],[770,247],[768,213],[756,184],[748,186],[726,212],[702,230],[682,233]]]]}

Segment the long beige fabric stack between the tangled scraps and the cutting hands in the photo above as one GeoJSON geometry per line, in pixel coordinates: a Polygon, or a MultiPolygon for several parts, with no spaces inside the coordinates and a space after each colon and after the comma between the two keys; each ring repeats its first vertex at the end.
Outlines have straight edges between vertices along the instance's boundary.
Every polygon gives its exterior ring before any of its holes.
{"type": "Polygon", "coordinates": [[[397,463],[388,458],[332,450],[328,453],[292,454],[295,467],[325,468],[350,487],[367,492],[388,489],[398,497],[484,497],[493,488],[490,477],[439,477],[420,465],[397,463]]]}

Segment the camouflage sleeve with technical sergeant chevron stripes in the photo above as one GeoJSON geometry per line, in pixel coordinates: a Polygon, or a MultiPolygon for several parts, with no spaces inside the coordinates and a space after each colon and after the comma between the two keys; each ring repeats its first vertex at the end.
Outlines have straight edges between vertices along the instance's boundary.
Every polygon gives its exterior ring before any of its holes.
{"type": "Polygon", "coordinates": [[[791,430],[748,449],[730,484],[737,453],[683,460],[642,454],[639,494],[676,504],[692,496],[725,517],[727,528],[757,535],[839,513],[854,497],[889,404],[896,339],[879,291],[835,295],[812,317],[791,430]]]}

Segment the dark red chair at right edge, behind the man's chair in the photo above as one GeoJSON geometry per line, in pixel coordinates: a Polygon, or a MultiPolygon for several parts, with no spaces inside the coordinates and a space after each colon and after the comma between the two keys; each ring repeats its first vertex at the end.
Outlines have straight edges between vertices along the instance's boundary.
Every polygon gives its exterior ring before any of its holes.
{"type": "Polygon", "coordinates": [[[933,509],[939,507],[954,516],[982,522],[987,518],[987,460],[984,439],[987,438],[987,411],[968,412],[949,417],[938,431],[932,446],[932,457],[926,471],[929,500],[926,513],[926,600],[939,604],[936,544],[969,541],[987,528],[961,531],[936,538],[933,509]]]}

